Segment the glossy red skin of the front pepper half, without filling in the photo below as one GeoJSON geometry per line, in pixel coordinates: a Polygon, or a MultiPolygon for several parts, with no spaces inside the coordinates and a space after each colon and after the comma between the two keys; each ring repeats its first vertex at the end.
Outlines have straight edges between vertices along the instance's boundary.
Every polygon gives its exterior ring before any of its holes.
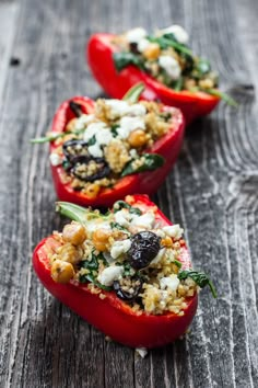
{"type": "MultiPolygon", "coordinates": [[[[143,210],[155,206],[145,195],[131,196],[130,204],[139,205],[143,210]]],[[[159,209],[156,219],[163,226],[172,225],[159,209]]],[[[98,295],[91,294],[86,285],[75,282],[68,284],[54,282],[47,254],[58,246],[52,237],[48,237],[35,248],[33,265],[38,278],[51,295],[106,335],[131,347],[156,347],[175,341],[186,332],[197,310],[197,294],[187,299],[184,316],[172,312],[163,316],[146,313],[137,316],[114,292],[102,290],[106,297],[101,299],[98,295]]],[[[179,260],[183,269],[190,266],[186,247],[179,260]]]]}

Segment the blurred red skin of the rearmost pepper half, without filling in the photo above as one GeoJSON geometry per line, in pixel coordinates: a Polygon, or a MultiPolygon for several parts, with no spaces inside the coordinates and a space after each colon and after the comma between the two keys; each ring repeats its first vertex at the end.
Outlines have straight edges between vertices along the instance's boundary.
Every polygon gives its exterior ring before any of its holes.
{"type": "Polygon", "coordinates": [[[122,95],[136,83],[143,82],[145,90],[143,100],[160,100],[163,104],[181,110],[186,123],[189,124],[199,116],[209,114],[220,99],[203,92],[177,92],[156,81],[134,66],[128,66],[118,72],[113,60],[113,53],[118,48],[112,44],[114,34],[95,34],[86,46],[86,57],[93,76],[107,94],[114,99],[122,95]]]}

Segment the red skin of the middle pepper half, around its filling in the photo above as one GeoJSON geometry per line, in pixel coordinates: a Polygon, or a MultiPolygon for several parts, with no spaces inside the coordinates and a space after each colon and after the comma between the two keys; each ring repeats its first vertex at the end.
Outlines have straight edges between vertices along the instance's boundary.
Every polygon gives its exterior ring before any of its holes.
{"type": "MultiPolygon", "coordinates": [[[[94,101],[87,98],[75,96],[71,100],[67,100],[60,105],[54,117],[52,132],[64,132],[67,123],[74,117],[74,114],[69,107],[69,101],[81,104],[84,113],[92,113],[94,111],[94,101]]],[[[112,189],[102,190],[95,198],[90,198],[86,194],[74,191],[70,183],[63,183],[63,168],[61,166],[51,166],[58,198],[82,206],[112,206],[114,202],[124,198],[128,194],[154,193],[163,183],[176,161],[185,133],[185,121],[180,111],[169,106],[164,106],[164,110],[173,110],[172,129],[146,150],[148,152],[156,152],[163,156],[165,158],[163,167],[154,171],[121,178],[112,189]]],[[[58,145],[56,142],[51,142],[50,152],[57,147],[58,145]]]]}

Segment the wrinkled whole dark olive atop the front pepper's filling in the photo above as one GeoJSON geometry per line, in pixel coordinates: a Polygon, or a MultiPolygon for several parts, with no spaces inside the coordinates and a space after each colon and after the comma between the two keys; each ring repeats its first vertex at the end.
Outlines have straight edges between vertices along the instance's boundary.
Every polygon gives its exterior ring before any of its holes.
{"type": "Polygon", "coordinates": [[[161,238],[152,231],[140,231],[131,239],[128,261],[136,270],[144,269],[157,255],[161,238]]]}

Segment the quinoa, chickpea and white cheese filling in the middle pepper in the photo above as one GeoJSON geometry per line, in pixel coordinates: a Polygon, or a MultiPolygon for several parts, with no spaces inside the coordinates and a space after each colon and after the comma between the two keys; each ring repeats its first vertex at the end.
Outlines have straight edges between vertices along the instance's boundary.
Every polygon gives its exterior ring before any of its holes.
{"type": "Polygon", "coordinates": [[[125,175],[155,170],[164,158],[149,153],[152,145],[174,129],[174,109],[156,102],[129,103],[99,99],[92,114],[73,117],[63,136],[54,138],[52,166],[62,166],[62,181],[96,197],[125,175]]]}

